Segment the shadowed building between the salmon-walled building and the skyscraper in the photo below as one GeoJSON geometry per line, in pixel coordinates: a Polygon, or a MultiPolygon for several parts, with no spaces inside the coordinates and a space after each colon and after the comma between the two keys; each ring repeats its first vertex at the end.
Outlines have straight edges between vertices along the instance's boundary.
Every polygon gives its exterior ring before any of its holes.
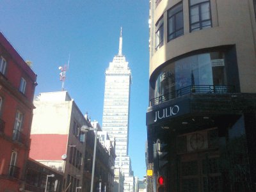
{"type": "MultiPolygon", "coordinates": [[[[97,122],[92,122],[95,127],[97,122]]],[[[101,127],[98,125],[98,130],[101,127]]],[[[98,131],[97,134],[97,148],[95,159],[95,174],[93,179],[93,191],[113,191],[114,182],[114,163],[115,163],[115,149],[109,141],[108,134],[106,132],[98,131]]],[[[95,141],[95,132],[90,131],[86,137],[86,148],[84,161],[84,177],[83,183],[85,185],[84,191],[90,191],[90,184],[92,181],[92,161],[93,161],[93,147],[95,141]]]]}

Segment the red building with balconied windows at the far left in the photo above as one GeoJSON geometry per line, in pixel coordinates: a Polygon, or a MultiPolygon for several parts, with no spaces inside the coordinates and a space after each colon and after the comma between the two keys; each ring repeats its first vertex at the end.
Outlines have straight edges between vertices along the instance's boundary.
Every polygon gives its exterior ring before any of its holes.
{"type": "Polygon", "coordinates": [[[36,74],[0,32],[0,191],[24,189],[36,74]]]}

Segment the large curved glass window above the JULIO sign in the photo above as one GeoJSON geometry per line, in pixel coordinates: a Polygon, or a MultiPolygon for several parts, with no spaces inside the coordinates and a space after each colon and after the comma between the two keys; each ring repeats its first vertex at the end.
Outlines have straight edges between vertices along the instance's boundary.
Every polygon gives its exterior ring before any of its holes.
{"type": "Polygon", "coordinates": [[[177,97],[175,94],[193,85],[199,87],[226,85],[223,57],[223,52],[208,52],[170,63],[157,76],[155,98],[161,95],[177,97]]]}

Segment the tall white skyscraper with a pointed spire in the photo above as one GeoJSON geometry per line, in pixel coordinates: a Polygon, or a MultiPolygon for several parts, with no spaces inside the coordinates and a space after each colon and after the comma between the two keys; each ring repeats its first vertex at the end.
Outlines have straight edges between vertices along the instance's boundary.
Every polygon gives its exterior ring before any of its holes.
{"type": "MultiPolygon", "coordinates": [[[[122,54],[121,28],[118,54],[106,69],[102,130],[108,131],[109,138],[116,141],[115,167],[122,170],[125,180],[132,175],[131,159],[128,156],[130,90],[131,70],[122,54]]],[[[131,184],[128,186],[131,189],[131,184]]]]}

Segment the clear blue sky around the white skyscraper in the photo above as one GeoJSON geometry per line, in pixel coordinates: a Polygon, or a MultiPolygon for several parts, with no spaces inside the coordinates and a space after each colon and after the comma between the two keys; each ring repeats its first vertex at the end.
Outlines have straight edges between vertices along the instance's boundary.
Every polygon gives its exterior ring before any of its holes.
{"type": "Polygon", "coordinates": [[[16,1],[0,0],[0,31],[37,74],[35,95],[61,91],[60,70],[82,113],[102,125],[105,70],[123,54],[132,72],[129,156],[134,176],[146,174],[148,107],[148,0],[16,1]]]}

